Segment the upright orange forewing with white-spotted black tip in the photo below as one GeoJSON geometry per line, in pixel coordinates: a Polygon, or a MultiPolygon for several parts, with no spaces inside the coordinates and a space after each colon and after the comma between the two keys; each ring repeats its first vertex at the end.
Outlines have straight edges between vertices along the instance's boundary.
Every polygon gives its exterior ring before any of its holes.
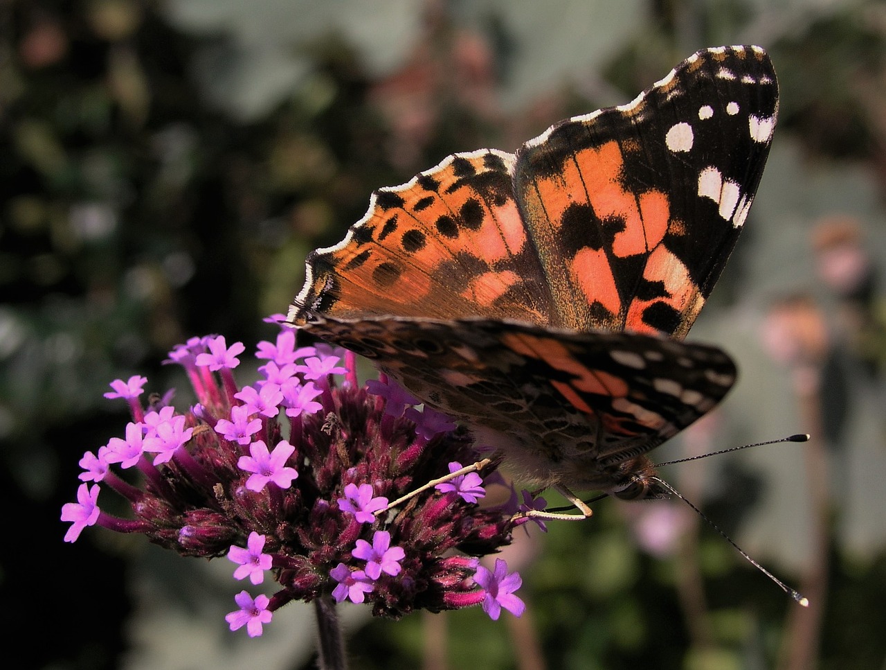
{"type": "Polygon", "coordinates": [[[762,50],[708,50],[632,103],[527,142],[516,197],[556,323],[686,335],[741,232],[777,107],[762,50]]]}

